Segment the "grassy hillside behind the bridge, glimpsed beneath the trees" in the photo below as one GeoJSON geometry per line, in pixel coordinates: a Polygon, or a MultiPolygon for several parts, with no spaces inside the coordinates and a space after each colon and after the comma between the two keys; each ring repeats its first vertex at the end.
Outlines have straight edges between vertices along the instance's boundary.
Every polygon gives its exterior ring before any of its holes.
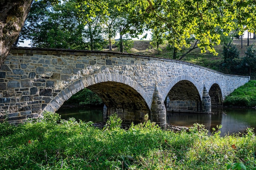
{"type": "MultiPolygon", "coordinates": [[[[256,44],[256,40],[250,40],[249,43],[250,45],[256,44]]],[[[240,59],[243,58],[245,56],[245,51],[247,50],[247,40],[243,40],[243,48],[241,48],[241,40],[234,40],[233,44],[235,44],[238,51],[240,51],[240,59]]],[[[162,50],[158,51],[150,45],[149,40],[134,40],[134,45],[131,51],[138,55],[151,55],[164,58],[173,57],[173,49],[168,48],[167,41],[160,45],[160,47],[162,50]]],[[[200,66],[223,72],[221,69],[221,65],[223,63],[223,46],[218,45],[215,49],[219,53],[218,56],[214,56],[209,52],[201,53],[200,49],[195,49],[186,55],[182,61],[191,62],[193,64],[198,64],[200,66]]],[[[114,48],[113,51],[118,51],[118,49],[114,48]]],[[[186,53],[186,51],[187,49],[182,49],[182,51],[177,53],[177,56],[181,56],[183,53],[186,53]]],[[[256,79],[256,73],[252,73],[251,79],[256,79]]]]}

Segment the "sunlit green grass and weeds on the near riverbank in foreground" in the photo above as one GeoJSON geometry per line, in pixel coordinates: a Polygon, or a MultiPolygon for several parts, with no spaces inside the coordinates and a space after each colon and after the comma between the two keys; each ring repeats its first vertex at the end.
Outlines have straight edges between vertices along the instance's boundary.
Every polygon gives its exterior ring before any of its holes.
{"type": "Polygon", "coordinates": [[[120,119],[112,117],[98,129],[91,122],[45,116],[36,123],[0,124],[1,170],[225,170],[236,165],[255,169],[252,129],[242,137],[220,137],[218,131],[208,136],[199,124],[189,132],[174,133],[150,121],[124,130],[120,119]]]}

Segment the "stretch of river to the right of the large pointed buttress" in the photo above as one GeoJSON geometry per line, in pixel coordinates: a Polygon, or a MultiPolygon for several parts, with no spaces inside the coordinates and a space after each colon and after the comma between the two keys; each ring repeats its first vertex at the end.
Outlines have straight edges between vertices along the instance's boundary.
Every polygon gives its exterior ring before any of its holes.
{"type": "Polygon", "coordinates": [[[212,128],[222,125],[221,135],[246,132],[246,129],[256,127],[255,109],[212,108],[214,114],[195,113],[167,113],[167,123],[176,126],[193,126],[194,123],[204,124],[213,132],[212,128]]]}

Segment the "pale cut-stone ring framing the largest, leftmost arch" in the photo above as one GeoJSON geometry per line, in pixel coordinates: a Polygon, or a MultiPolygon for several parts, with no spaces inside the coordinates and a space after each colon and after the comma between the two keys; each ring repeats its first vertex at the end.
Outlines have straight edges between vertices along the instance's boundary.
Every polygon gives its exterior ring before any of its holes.
{"type": "MultiPolygon", "coordinates": [[[[132,91],[133,93],[137,92],[137,96],[143,99],[145,103],[144,105],[146,105],[146,106],[143,106],[144,108],[142,109],[145,110],[145,108],[147,107],[148,110],[150,110],[152,101],[150,101],[150,98],[148,97],[147,93],[144,91],[143,88],[141,88],[141,86],[139,86],[137,82],[133,81],[130,77],[107,72],[107,73],[97,73],[94,75],[89,75],[88,77],[83,77],[73,82],[72,84],[67,86],[63,91],[59,92],[58,95],[56,95],[56,97],[54,97],[54,99],[52,99],[52,101],[49,102],[49,104],[47,104],[45,108],[43,108],[43,111],[47,110],[47,111],[55,112],[63,105],[63,103],[67,99],[69,99],[75,93],[81,91],[83,88],[91,87],[90,88],[91,90],[95,90],[96,84],[103,84],[103,83],[123,84],[128,88],[127,91],[124,90],[125,88],[122,88],[124,93],[128,93],[129,91],[132,91]]],[[[99,91],[97,94],[99,94],[99,91]]],[[[100,95],[103,95],[103,93],[101,93],[100,95]]],[[[104,102],[106,102],[106,97],[104,102]]],[[[140,103],[138,105],[139,106],[135,106],[135,107],[142,107],[141,105],[143,104],[140,103]]],[[[115,111],[117,112],[117,110],[114,110],[113,112],[115,111]]],[[[141,117],[143,118],[144,115],[141,115],[141,117]]],[[[138,119],[141,119],[141,118],[138,118],[138,119]]]]}

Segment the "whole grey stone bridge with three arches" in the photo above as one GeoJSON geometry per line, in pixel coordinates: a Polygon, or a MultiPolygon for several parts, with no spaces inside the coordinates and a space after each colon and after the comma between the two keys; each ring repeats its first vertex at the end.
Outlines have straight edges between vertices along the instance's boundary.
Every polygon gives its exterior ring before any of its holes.
{"type": "Polygon", "coordinates": [[[165,58],[13,47],[0,70],[0,119],[8,114],[10,123],[20,123],[55,112],[89,88],[105,103],[105,119],[117,112],[124,122],[138,123],[148,113],[166,126],[166,110],[210,113],[249,79],[165,58]]]}

